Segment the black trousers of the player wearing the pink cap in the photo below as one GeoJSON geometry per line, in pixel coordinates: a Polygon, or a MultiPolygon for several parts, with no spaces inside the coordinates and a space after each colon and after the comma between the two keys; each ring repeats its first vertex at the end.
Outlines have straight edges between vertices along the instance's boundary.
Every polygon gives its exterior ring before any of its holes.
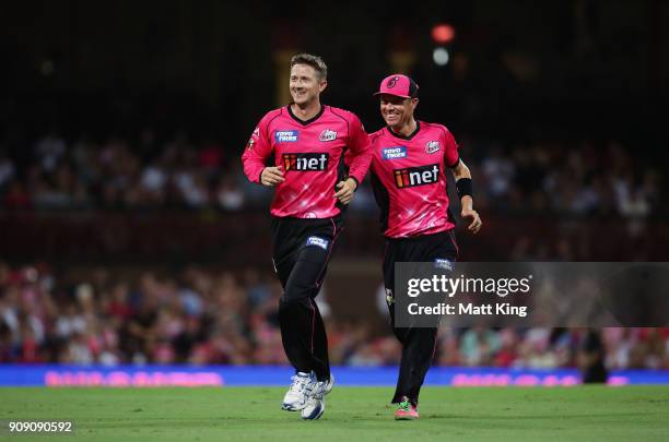
{"type": "Polygon", "coordinates": [[[390,311],[390,326],[402,344],[400,371],[392,396],[394,404],[401,402],[402,396],[407,396],[413,405],[418,405],[421,386],[436,350],[438,328],[395,326],[395,263],[435,262],[437,259],[455,263],[457,256],[458,247],[453,229],[412,238],[386,239],[384,254],[384,285],[388,295],[386,300],[390,311]]]}

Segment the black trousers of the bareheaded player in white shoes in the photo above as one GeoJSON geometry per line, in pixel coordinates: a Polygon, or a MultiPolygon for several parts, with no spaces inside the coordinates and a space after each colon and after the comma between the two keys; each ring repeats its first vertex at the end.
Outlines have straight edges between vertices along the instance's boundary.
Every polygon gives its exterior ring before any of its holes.
{"type": "Polygon", "coordinates": [[[328,338],[314,301],[322,284],[341,216],[324,219],[272,217],[272,261],[283,287],[279,301],[281,341],[295,370],[330,379],[328,338]]]}

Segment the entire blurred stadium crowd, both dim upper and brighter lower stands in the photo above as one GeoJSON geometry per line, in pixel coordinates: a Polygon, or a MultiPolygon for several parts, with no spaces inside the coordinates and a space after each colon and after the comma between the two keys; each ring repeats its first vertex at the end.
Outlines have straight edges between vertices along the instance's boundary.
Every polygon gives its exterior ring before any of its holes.
{"type": "MultiPolygon", "coordinates": [[[[662,177],[650,159],[634,156],[631,145],[503,145],[466,135],[460,144],[477,177],[477,207],[483,212],[631,222],[664,214],[662,177]]],[[[0,211],[265,211],[271,192],[246,181],[238,151],[195,142],[185,132],[163,140],[151,128],[102,142],[85,135],[68,140],[52,130],[26,150],[0,145],[0,211]]],[[[368,188],[357,192],[352,210],[376,216],[368,188]]],[[[531,238],[520,237],[509,258],[570,261],[591,254],[575,253],[564,238],[555,240],[554,253],[542,253],[531,238]]],[[[586,246],[582,241],[579,247],[586,246]]],[[[273,275],[251,268],[233,273],[191,266],[174,276],[103,267],[66,277],[47,265],[0,264],[0,362],[285,363],[277,318],[280,296],[273,275]]],[[[319,302],[327,312],[327,297],[319,302]]],[[[384,311],[382,306],[375,312],[377,321],[327,318],[334,363],[399,360],[384,311]]],[[[572,328],[443,328],[435,363],[573,367],[584,336],[584,330],[572,328]]],[[[669,368],[668,328],[605,328],[601,338],[609,368],[669,368]]]]}

